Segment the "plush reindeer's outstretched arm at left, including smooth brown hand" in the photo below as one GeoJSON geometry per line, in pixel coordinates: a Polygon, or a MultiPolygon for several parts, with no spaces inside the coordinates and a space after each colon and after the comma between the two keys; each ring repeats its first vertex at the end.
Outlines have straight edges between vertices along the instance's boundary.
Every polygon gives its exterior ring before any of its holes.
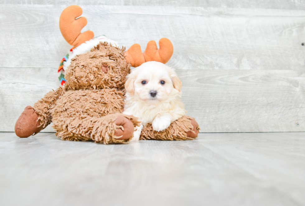
{"type": "Polygon", "coordinates": [[[37,134],[51,123],[50,110],[56,100],[63,93],[63,87],[48,92],[44,98],[37,101],[34,107],[27,106],[15,124],[15,133],[18,137],[29,137],[37,134]]]}

